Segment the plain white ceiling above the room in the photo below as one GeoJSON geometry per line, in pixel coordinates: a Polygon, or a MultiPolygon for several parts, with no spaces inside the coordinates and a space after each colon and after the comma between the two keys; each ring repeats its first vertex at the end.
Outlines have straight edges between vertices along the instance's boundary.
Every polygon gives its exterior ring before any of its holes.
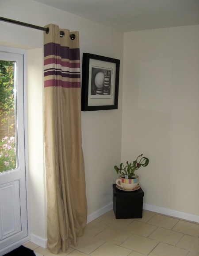
{"type": "Polygon", "coordinates": [[[199,24],[199,0],[35,1],[124,32],[199,24]]]}

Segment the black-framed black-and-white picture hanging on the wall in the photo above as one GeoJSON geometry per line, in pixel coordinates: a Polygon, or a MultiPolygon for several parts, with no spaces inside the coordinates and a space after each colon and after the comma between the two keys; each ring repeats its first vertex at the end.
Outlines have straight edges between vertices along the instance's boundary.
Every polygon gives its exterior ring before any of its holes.
{"type": "Polygon", "coordinates": [[[81,110],[118,109],[119,59],[83,53],[81,110]]]}

